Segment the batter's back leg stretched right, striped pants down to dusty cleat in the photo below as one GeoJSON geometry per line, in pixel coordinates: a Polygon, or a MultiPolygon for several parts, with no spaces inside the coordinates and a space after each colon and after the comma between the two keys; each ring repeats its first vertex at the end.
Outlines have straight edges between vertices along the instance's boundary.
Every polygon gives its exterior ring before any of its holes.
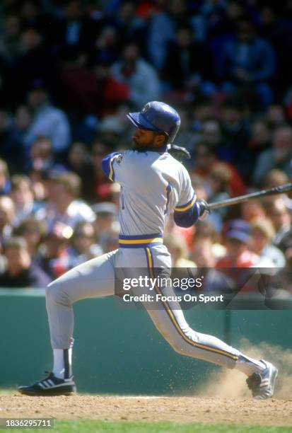
{"type": "MultiPolygon", "coordinates": [[[[150,265],[161,267],[162,261],[165,262],[165,257],[160,257],[158,249],[146,248],[146,254],[148,256],[149,268],[151,267],[150,265]]],[[[166,264],[167,266],[168,264],[166,264]]],[[[149,272],[152,273],[151,269],[149,269],[149,272]]],[[[155,290],[156,294],[168,296],[168,299],[171,299],[171,296],[175,296],[171,287],[160,289],[156,285],[155,290]]],[[[149,306],[151,307],[151,304],[148,304],[149,306]]],[[[213,335],[197,333],[188,325],[178,302],[168,300],[158,301],[154,305],[154,308],[147,308],[147,311],[156,328],[176,352],[189,357],[204,359],[207,362],[225,366],[228,369],[238,369],[249,378],[255,379],[255,382],[258,382],[254,384],[252,383],[253,379],[251,379],[251,383],[248,383],[252,391],[255,391],[255,395],[260,394],[263,396],[264,391],[267,391],[267,396],[264,398],[272,395],[277,374],[274,366],[265,361],[258,361],[257,359],[248,357],[213,335]],[[266,380],[265,376],[269,376],[269,384],[267,389],[263,390],[259,388],[259,385],[266,383],[264,382],[266,380]]]]}

